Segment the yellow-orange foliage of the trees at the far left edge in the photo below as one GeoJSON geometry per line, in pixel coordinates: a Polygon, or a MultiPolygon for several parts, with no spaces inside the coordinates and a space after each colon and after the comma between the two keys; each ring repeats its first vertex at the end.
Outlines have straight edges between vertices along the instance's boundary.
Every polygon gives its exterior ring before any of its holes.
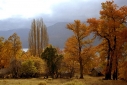
{"type": "Polygon", "coordinates": [[[20,38],[14,33],[12,36],[8,38],[8,40],[4,41],[4,38],[0,38],[0,43],[3,43],[2,47],[0,48],[0,64],[4,67],[9,66],[10,60],[12,57],[18,57],[21,52],[21,42],[20,38]]]}

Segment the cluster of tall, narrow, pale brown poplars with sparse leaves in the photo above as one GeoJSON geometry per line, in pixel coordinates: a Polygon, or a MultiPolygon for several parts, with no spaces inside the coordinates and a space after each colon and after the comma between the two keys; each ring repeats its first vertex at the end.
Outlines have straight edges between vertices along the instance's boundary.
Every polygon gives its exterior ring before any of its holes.
{"type": "Polygon", "coordinates": [[[43,49],[48,45],[47,28],[42,19],[33,20],[28,42],[31,55],[40,57],[43,49]]]}

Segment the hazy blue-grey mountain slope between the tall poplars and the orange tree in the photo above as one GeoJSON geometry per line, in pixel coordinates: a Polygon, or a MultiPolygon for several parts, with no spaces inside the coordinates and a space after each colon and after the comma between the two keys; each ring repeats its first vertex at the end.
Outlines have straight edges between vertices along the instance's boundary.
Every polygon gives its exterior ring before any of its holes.
{"type": "Polygon", "coordinates": [[[49,42],[59,48],[63,48],[65,41],[72,35],[72,32],[66,28],[68,22],[59,22],[47,28],[49,42]]]}

